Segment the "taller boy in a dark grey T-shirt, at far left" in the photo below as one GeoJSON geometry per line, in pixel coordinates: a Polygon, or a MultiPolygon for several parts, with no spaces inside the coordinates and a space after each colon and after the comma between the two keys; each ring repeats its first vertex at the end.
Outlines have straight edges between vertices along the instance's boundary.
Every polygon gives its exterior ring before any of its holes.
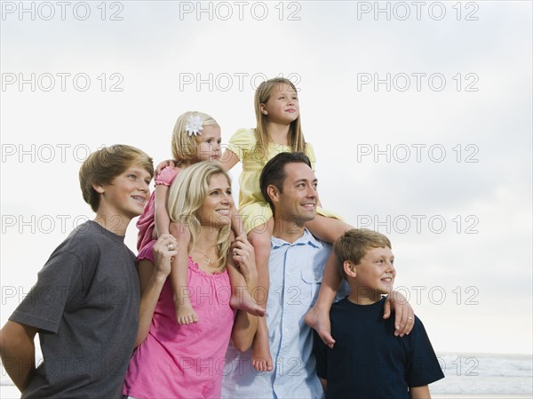
{"type": "Polygon", "coordinates": [[[82,165],[82,193],[96,218],[53,251],[0,331],[2,362],[22,398],[122,397],[140,300],[135,256],[123,241],[153,174],[152,158],[123,145],[82,165]],[[36,334],[44,356],[38,367],[36,334]]]}

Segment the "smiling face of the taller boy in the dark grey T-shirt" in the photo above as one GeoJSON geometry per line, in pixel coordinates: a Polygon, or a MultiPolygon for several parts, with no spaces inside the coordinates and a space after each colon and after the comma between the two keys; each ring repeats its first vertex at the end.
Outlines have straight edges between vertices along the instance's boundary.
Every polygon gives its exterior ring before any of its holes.
{"type": "Polygon", "coordinates": [[[106,214],[111,223],[114,217],[129,222],[139,216],[150,197],[150,180],[152,177],[145,169],[132,165],[111,183],[94,185],[100,194],[99,213],[106,214]]]}

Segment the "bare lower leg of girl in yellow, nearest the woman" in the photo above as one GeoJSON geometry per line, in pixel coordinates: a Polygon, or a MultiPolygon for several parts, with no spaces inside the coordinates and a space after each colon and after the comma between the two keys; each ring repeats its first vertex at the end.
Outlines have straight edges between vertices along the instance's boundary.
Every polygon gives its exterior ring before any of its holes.
{"type": "MultiPolygon", "coordinates": [[[[256,267],[258,268],[258,295],[259,306],[267,307],[270,277],[268,275],[268,259],[270,258],[270,237],[274,230],[274,219],[270,218],[266,225],[261,225],[248,233],[248,239],[253,245],[256,254],[256,267]]],[[[257,371],[272,371],[274,363],[270,355],[268,344],[267,319],[260,318],[258,331],[251,346],[251,364],[257,371]]]]}

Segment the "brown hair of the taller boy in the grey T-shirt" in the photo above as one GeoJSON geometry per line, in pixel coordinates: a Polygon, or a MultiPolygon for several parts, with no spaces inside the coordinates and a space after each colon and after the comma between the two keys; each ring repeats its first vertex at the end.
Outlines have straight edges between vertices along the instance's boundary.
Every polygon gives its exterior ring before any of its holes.
{"type": "Polygon", "coordinates": [[[154,177],[152,158],[141,149],[125,144],[101,148],[85,159],[79,173],[80,187],[84,200],[91,205],[92,211],[96,212],[99,208],[99,193],[92,185],[110,184],[116,176],[132,165],[140,166],[150,177],[154,177]]]}

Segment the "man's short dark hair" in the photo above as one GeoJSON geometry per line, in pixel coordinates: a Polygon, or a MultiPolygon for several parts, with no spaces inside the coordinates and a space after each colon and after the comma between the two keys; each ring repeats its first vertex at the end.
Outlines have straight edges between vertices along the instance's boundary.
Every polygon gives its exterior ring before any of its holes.
{"type": "Polygon", "coordinates": [[[261,177],[259,178],[259,187],[261,188],[261,194],[265,197],[267,203],[270,204],[270,207],[274,211],[274,204],[268,196],[267,187],[271,184],[280,190],[280,193],[283,192],[283,181],[287,177],[285,173],[286,164],[306,164],[311,167],[311,161],[303,152],[282,152],[277,156],[274,156],[270,161],[267,162],[261,172],[261,177]]]}

